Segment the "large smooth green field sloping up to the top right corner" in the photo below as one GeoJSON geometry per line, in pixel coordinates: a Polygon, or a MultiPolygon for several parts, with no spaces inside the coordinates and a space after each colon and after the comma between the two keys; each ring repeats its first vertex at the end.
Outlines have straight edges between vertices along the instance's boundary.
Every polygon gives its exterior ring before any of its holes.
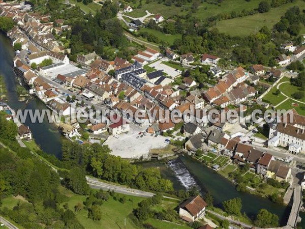
{"type": "MultiPolygon", "coordinates": [[[[259,1],[251,1],[257,2],[259,1]]],[[[241,6],[245,5],[240,4],[241,6]]],[[[219,21],[216,25],[221,33],[226,33],[232,36],[247,36],[257,33],[263,26],[272,28],[276,24],[281,16],[291,8],[292,6],[298,6],[300,10],[305,9],[305,2],[295,1],[294,3],[285,4],[278,8],[272,8],[269,12],[263,14],[254,14],[246,17],[233,18],[229,20],[219,21]]],[[[237,10],[236,10],[237,11],[237,10]]]]}

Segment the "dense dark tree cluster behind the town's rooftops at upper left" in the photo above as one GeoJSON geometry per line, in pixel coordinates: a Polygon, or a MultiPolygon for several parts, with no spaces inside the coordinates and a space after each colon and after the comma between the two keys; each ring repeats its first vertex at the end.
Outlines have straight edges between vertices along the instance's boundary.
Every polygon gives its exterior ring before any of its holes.
{"type": "Polygon", "coordinates": [[[95,16],[88,14],[73,21],[71,34],[67,34],[67,38],[71,40],[71,54],[95,50],[103,58],[112,58],[113,48],[126,46],[127,38],[120,22],[115,18],[116,13],[117,6],[106,1],[95,16]]]}

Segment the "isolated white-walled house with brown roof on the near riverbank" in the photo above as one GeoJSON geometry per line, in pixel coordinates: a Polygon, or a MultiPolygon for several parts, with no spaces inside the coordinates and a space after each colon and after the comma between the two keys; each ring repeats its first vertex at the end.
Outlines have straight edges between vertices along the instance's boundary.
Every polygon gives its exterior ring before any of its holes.
{"type": "Polygon", "coordinates": [[[204,216],[206,206],[207,204],[199,195],[192,196],[179,205],[179,216],[188,222],[193,222],[204,216]]]}

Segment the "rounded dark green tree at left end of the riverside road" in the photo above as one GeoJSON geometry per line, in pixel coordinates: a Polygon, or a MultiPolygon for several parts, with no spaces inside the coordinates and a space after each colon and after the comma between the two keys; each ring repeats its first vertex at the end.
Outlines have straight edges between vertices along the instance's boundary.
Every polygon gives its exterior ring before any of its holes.
{"type": "Polygon", "coordinates": [[[86,195],[90,190],[85,178],[85,171],[80,167],[74,167],[70,170],[66,180],[66,186],[80,195],[86,195]]]}

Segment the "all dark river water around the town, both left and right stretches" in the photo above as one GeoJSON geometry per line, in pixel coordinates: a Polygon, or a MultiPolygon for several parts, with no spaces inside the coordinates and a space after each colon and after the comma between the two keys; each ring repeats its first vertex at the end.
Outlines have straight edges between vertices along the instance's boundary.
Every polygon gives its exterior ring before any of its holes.
{"type": "MultiPolygon", "coordinates": [[[[18,101],[16,93],[17,81],[13,71],[14,49],[11,46],[10,40],[0,33],[0,70],[4,76],[7,86],[8,104],[13,109],[47,109],[47,107],[39,99],[34,98],[29,103],[18,101]]],[[[26,119],[27,125],[33,132],[33,136],[37,144],[43,151],[48,154],[54,154],[60,158],[62,155],[63,137],[56,130],[54,124],[48,123],[44,119],[43,123],[31,123],[26,119]]],[[[260,209],[267,209],[275,213],[280,218],[281,225],[285,225],[289,217],[290,208],[274,204],[266,198],[262,198],[250,193],[237,192],[234,185],[216,174],[213,170],[205,167],[202,163],[193,158],[184,156],[176,160],[170,161],[168,164],[165,161],[145,162],[140,163],[144,167],[154,166],[159,167],[161,175],[165,179],[173,182],[175,190],[187,189],[196,185],[201,192],[209,191],[215,199],[215,205],[221,207],[221,203],[227,199],[240,197],[242,200],[242,212],[246,212],[249,217],[254,217],[260,209]]],[[[302,217],[301,228],[305,228],[305,214],[300,213],[302,217]]]]}

